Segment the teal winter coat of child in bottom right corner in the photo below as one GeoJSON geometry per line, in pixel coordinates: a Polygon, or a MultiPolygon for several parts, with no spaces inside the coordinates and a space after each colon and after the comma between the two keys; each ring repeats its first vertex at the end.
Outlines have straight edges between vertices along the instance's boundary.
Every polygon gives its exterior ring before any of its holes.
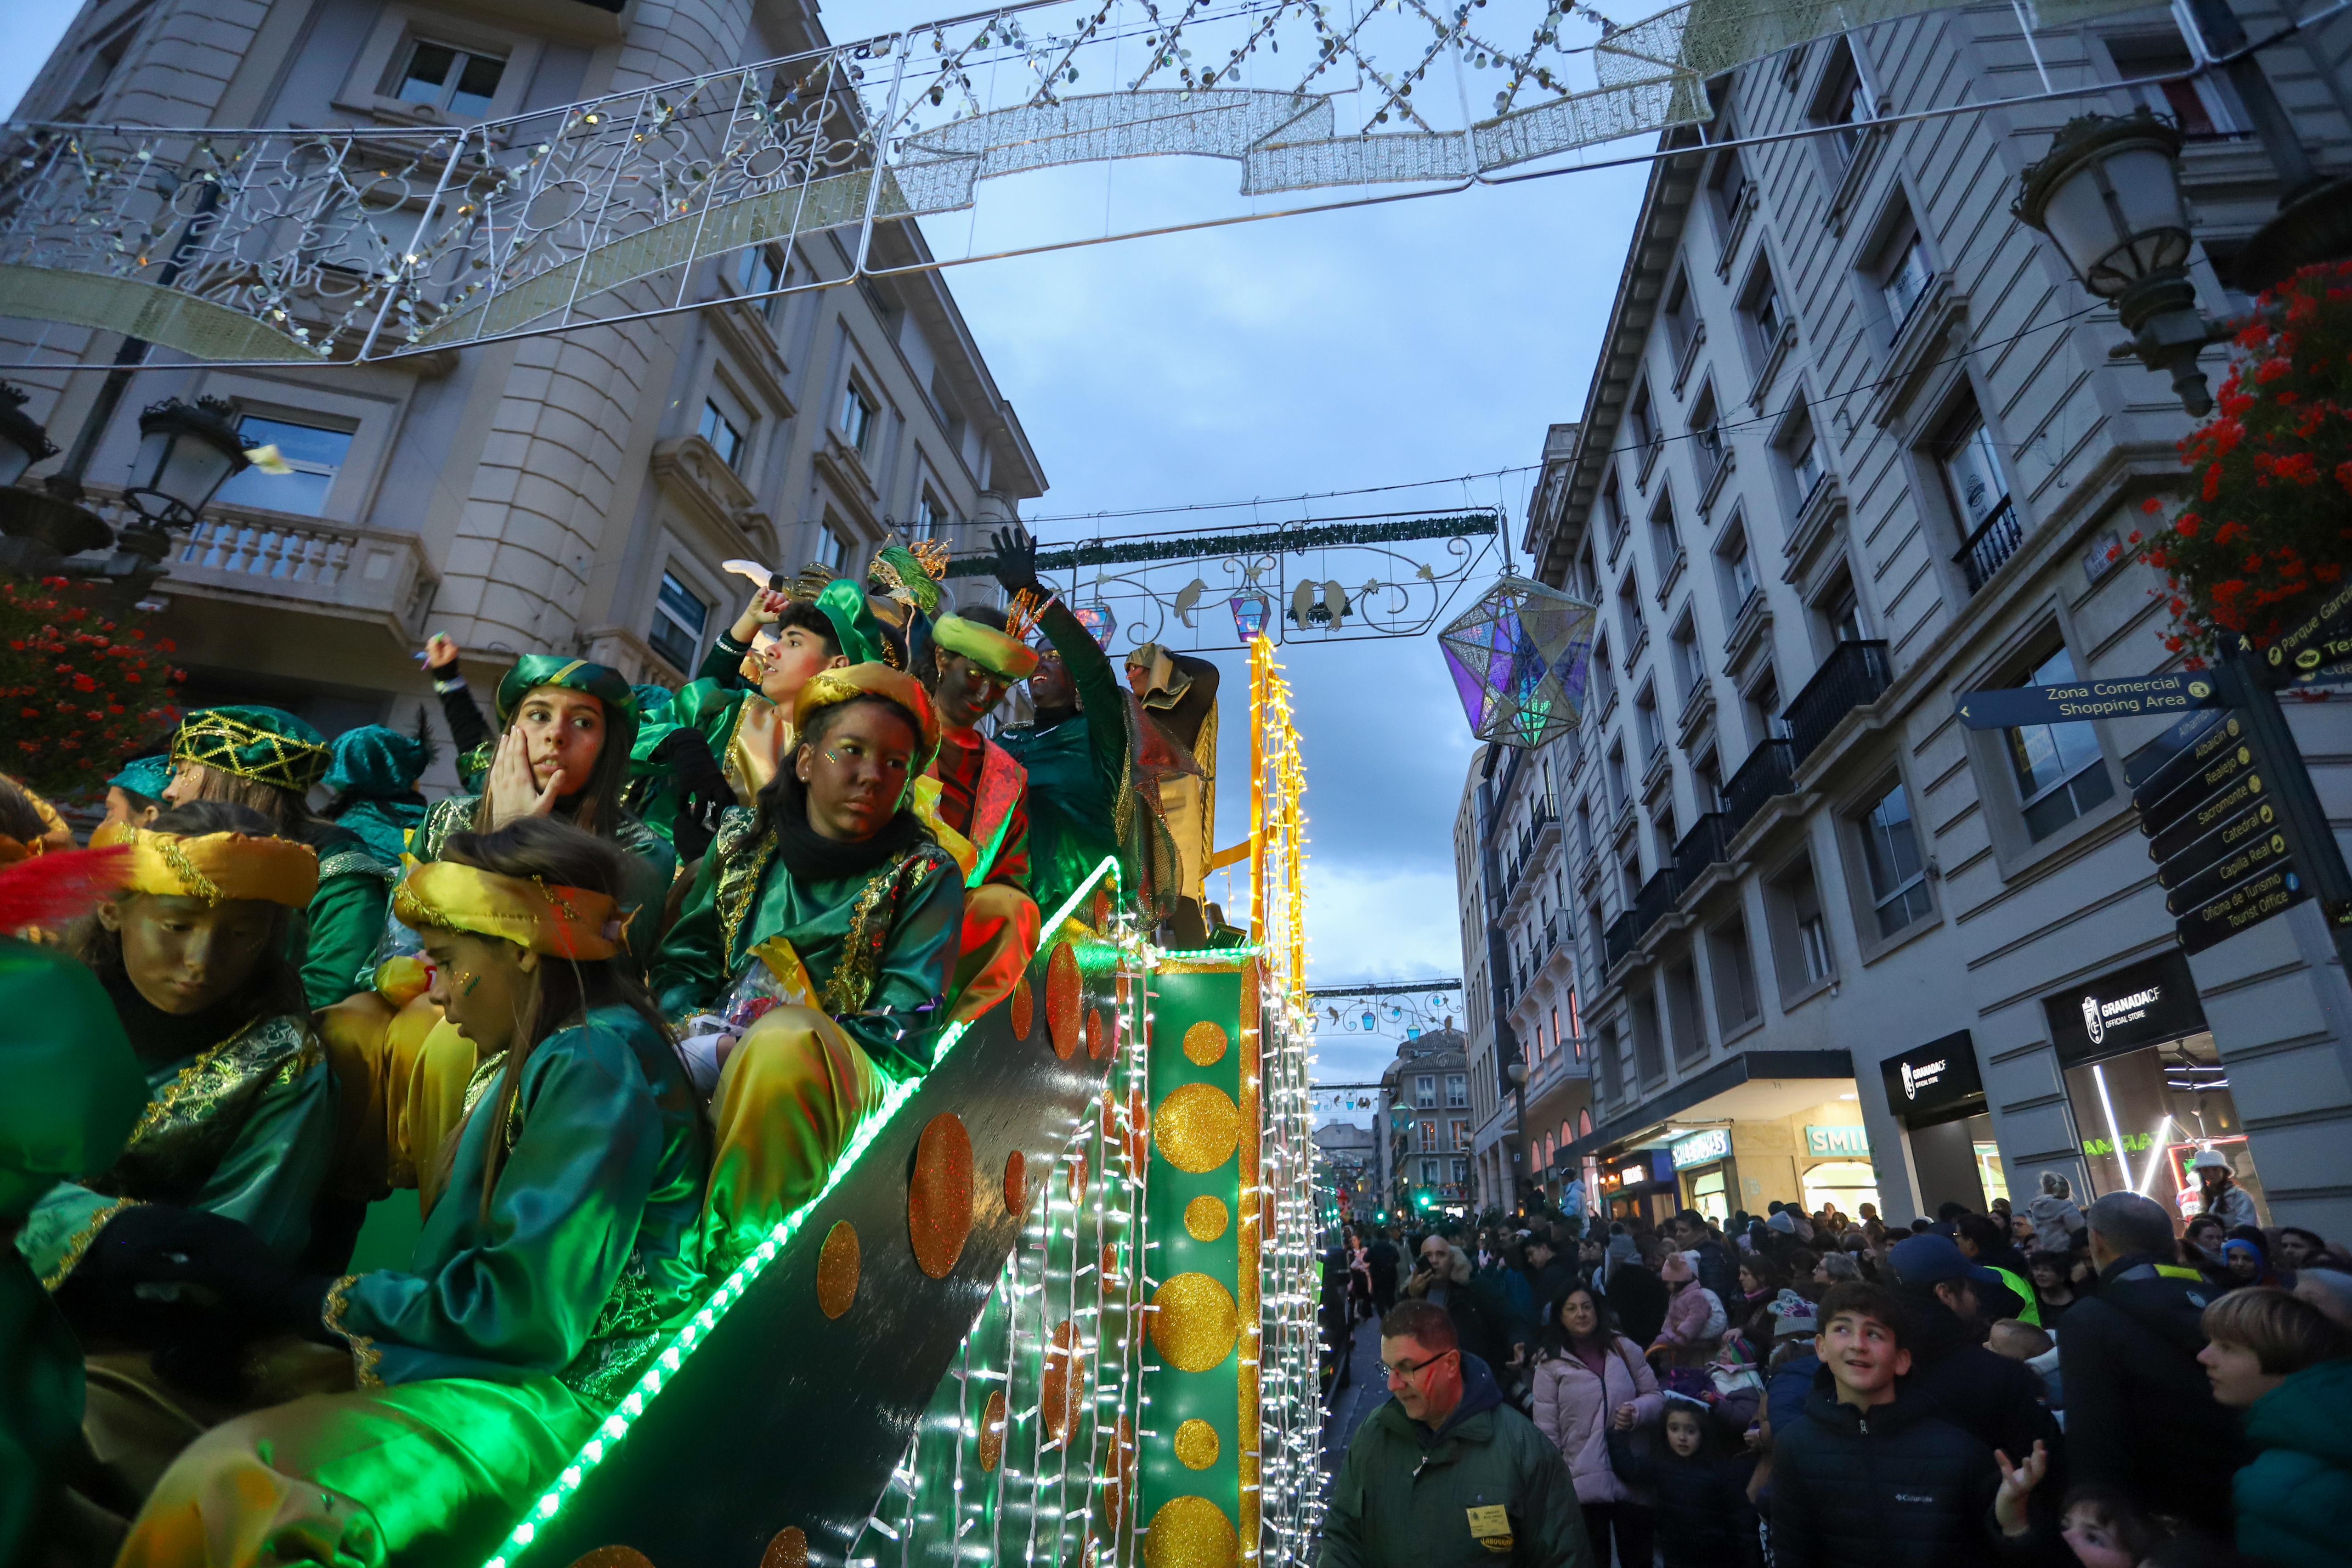
{"type": "Polygon", "coordinates": [[[2321,1361],[2253,1401],[2237,1472],[2237,1549],[2279,1568],[2352,1563],[2352,1361],[2321,1361]]]}

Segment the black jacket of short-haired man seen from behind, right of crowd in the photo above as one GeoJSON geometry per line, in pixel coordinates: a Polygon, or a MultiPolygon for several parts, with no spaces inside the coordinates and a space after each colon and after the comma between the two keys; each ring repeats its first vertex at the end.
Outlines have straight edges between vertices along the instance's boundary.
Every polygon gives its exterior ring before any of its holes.
{"type": "Polygon", "coordinates": [[[2159,1274],[2154,1258],[2138,1253],[2117,1258],[2098,1281],[2098,1295],[2067,1307],[2058,1335],[2070,1479],[2119,1486],[2150,1512],[2227,1533],[2230,1474],[2246,1458],[2244,1441],[2197,1366],[2197,1319],[2218,1293],[2159,1274]]]}

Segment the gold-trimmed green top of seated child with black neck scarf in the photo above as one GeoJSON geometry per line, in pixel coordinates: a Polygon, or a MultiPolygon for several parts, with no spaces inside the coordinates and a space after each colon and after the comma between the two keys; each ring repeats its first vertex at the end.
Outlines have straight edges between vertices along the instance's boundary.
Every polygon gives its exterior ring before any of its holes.
{"type": "MultiPolygon", "coordinates": [[[[906,1030],[920,1009],[948,992],[964,924],[964,884],[955,860],[924,839],[870,875],[802,884],[776,853],[774,832],[753,837],[750,825],[750,811],[727,811],[687,905],[654,957],[654,994],[663,1016],[684,1018],[715,1006],[743,966],[760,961],[753,950],[776,936],[793,943],[809,983],[826,994],[849,947],[858,903],[887,896],[887,889],[873,886],[877,879],[898,879],[882,952],[851,959],[870,961],[866,994],[833,1016],[891,1077],[929,1072],[929,1046],[908,1039],[906,1030]]],[[[929,1018],[917,1027],[929,1027],[929,1018]]]]}

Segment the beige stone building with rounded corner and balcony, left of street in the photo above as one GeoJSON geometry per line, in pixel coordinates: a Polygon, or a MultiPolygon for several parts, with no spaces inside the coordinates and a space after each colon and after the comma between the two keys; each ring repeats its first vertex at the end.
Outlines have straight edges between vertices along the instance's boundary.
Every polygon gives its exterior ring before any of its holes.
{"type": "MultiPolygon", "coordinates": [[[[809,0],[92,0],[16,113],[461,125],[821,42],[809,0]]],[[[910,226],[875,247],[875,266],[924,259],[910,226]]],[[[684,315],[365,367],[146,369],[92,491],[103,508],[136,409],[169,395],[235,402],[299,470],[230,480],[169,557],[160,630],[191,703],[400,722],[435,630],[477,675],[569,651],[675,684],[750,590],[724,559],[861,569],[894,536],[976,545],[1044,491],[943,275],[851,270],[821,233],[703,263],[687,289],[706,308],[684,315]],[[746,299],[811,280],[837,287],[746,299]]],[[[71,442],[120,339],[12,320],[0,343],[54,364],[12,378],[71,442]]]]}

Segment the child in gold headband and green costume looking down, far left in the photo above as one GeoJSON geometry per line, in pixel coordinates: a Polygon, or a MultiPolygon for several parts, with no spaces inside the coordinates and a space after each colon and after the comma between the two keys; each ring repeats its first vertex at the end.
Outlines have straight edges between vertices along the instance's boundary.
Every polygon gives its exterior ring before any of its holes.
{"type": "Polygon", "coordinates": [[[120,891],[66,940],[113,1001],[146,1072],[146,1110],[106,1168],[42,1192],[16,1251],[75,1328],[165,1345],[183,1312],[136,1286],[191,1215],[240,1220],[287,1262],[310,1234],[334,1084],[282,936],[289,910],[310,903],[318,853],[228,802],[96,839],[129,849],[120,891]]]}

